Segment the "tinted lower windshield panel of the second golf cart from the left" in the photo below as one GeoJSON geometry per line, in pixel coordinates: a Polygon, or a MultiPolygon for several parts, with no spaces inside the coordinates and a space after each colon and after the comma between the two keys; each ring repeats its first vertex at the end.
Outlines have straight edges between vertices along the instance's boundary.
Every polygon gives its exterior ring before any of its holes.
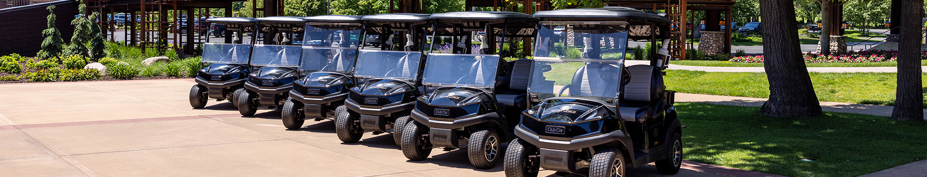
{"type": "Polygon", "coordinates": [[[251,65],[295,66],[299,64],[300,46],[254,44],[251,65]]]}

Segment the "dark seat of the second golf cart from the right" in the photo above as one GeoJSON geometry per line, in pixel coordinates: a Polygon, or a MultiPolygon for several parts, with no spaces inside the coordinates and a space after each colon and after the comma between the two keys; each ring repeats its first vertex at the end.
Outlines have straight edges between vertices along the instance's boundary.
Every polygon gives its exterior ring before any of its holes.
{"type": "Polygon", "coordinates": [[[532,60],[520,59],[514,62],[512,74],[509,75],[508,91],[496,94],[496,100],[506,107],[524,108],[527,93],[527,82],[531,78],[532,60]],[[519,94],[520,93],[520,94],[519,94]]]}

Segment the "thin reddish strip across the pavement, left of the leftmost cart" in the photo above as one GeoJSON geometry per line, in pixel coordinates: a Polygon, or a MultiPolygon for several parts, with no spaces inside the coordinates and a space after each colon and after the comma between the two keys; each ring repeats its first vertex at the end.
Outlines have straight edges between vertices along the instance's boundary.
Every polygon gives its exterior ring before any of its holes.
{"type": "Polygon", "coordinates": [[[179,120],[190,120],[190,119],[209,119],[209,118],[215,118],[215,117],[229,117],[229,115],[241,116],[239,114],[213,114],[213,115],[197,115],[197,116],[183,116],[183,117],[159,117],[159,118],[145,118],[145,119],[88,121],[88,122],[74,122],[74,123],[15,124],[15,125],[2,125],[0,126],[0,130],[58,127],[58,126],[77,126],[77,125],[90,125],[90,124],[124,124],[124,123],[157,122],[157,121],[179,121],[179,120]]]}

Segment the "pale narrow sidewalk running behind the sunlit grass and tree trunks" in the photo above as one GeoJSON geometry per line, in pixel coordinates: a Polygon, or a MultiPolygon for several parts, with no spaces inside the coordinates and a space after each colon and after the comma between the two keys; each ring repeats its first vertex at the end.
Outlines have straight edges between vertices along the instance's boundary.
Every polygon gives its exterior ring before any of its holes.
{"type": "MultiPolygon", "coordinates": [[[[625,60],[625,65],[649,65],[650,61],[643,60],[625,60]]],[[[811,73],[896,73],[898,68],[894,66],[880,67],[807,67],[811,73]]],[[[766,69],[763,67],[727,67],[727,66],[697,66],[697,65],[673,65],[669,62],[667,69],[688,70],[688,71],[705,71],[705,72],[745,72],[745,73],[763,73],[766,69]]],[[[922,71],[927,71],[927,65],[921,66],[922,71]]]]}

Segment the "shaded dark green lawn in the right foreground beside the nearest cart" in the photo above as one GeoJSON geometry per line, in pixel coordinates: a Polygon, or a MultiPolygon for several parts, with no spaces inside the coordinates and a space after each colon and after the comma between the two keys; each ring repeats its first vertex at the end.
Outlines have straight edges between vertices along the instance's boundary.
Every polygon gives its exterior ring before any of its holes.
{"type": "Polygon", "coordinates": [[[924,122],[837,112],[773,118],[757,107],[707,103],[676,107],[686,126],[683,159],[794,177],[858,176],[927,159],[924,122]]]}

